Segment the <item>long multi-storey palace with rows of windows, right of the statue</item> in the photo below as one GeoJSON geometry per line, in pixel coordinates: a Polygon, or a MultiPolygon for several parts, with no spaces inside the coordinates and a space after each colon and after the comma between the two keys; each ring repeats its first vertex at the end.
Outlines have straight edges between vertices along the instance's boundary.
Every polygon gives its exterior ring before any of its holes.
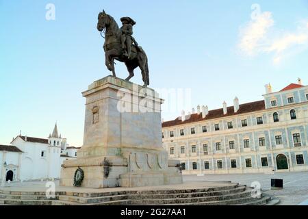
{"type": "Polygon", "coordinates": [[[182,115],[162,123],[163,145],[183,174],[308,170],[308,86],[301,80],[264,100],[182,115]]]}

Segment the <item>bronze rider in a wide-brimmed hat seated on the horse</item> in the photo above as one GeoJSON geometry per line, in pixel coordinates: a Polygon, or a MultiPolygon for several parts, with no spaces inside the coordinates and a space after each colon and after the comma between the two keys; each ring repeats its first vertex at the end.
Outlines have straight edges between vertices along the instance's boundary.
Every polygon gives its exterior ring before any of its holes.
{"type": "Polygon", "coordinates": [[[136,25],[136,22],[129,17],[120,18],[123,26],[121,29],[121,42],[122,42],[122,49],[125,51],[124,55],[131,58],[131,45],[134,43],[138,48],[138,43],[133,38],[133,25],[136,25]]]}

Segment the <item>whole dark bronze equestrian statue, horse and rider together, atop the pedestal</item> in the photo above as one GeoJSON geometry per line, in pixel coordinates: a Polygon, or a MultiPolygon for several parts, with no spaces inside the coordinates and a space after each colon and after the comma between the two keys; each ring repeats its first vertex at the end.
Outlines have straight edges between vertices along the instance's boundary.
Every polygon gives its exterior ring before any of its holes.
{"type": "Polygon", "coordinates": [[[134,75],[133,70],[139,67],[144,87],[149,86],[148,58],[142,47],[138,45],[132,36],[133,25],[136,25],[136,22],[129,17],[120,18],[123,26],[119,28],[114,18],[106,14],[104,10],[99,13],[98,19],[97,29],[101,32],[101,36],[105,31],[103,48],[105,51],[105,65],[108,70],[112,71],[112,75],[116,77],[114,60],[124,62],[129,72],[129,77],[125,80],[129,81],[134,75]]]}

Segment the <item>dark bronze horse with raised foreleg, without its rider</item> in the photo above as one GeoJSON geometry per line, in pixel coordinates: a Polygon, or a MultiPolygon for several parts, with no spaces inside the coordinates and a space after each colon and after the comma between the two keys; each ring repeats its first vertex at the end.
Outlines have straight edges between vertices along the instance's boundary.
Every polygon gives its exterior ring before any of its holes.
{"type": "Polygon", "coordinates": [[[112,71],[112,75],[116,77],[114,60],[124,62],[129,72],[129,77],[127,77],[125,80],[129,81],[129,79],[131,79],[131,77],[134,75],[133,70],[139,66],[144,86],[148,86],[150,84],[149,66],[148,58],[146,57],[144,50],[141,47],[133,44],[131,47],[131,57],[128,58],[125,56],[125,51],[123,51],[120,40],[121,30],[118,27],[116,21],[114,21],[114,18],[103,11],[99,13],[98,19],[99,22],[97,23],[97,29],[101,32],[105,30],[105,43],[103,48],[105,51],[105,65],[107,66],[108,70],[112,71]]]}

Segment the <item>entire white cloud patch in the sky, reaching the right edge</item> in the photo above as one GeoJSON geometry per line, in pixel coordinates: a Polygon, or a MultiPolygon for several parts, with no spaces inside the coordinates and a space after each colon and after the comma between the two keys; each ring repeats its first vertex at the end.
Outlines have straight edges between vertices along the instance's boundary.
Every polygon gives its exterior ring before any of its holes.
{"type": "Polygon", "coordinates": [[[271,29],[274,25],[271,12],[263,12],[249,21],[240,30],[239,49],[244,55],[272,54],[272,63],[280,64],[286,57],[292,57],[308,49],[308,22],[297,23],[295,31],[271,29]]]}

